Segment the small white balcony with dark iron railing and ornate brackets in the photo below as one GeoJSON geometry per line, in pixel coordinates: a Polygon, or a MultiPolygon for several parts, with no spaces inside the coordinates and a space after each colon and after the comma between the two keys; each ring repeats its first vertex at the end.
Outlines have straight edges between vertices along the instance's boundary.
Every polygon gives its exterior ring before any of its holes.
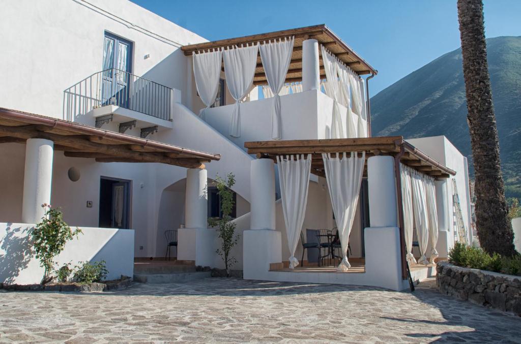
{"type": "Polygon", "coordinates": [[[64,91],[64,119],[143,138],[172,129],[180,91],[137,75],[106,69],[64,91]]]}

